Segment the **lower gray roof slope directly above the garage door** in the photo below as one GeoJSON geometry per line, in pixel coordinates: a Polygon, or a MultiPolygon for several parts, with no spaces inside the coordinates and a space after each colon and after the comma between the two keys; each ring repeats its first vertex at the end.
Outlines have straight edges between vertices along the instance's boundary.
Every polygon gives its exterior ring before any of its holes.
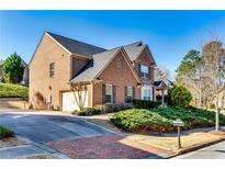
{"type": "Polygon", "coordinates": [[[120,49],[121,47],[116,47],[93,55],[93,59],[90,60],[88,65],[83,69],[81,69],[80,74],[78,74],[74,79],[71,79],[70,82],[90,81],[97,78],[99,72],[103,70],[103,68],[111,61],[111,59],[120,49]]]}

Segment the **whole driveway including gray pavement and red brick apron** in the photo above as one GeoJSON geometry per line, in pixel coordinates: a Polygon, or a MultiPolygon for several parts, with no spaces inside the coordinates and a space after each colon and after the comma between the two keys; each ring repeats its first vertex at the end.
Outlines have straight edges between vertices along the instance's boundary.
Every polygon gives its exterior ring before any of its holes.
{"type": "MultiPolygon", "coordinates": [[[[81,117],[60,112],[4,112],[0,125],[25,138],[23,145],[0,147],[1,158],[161,158],[164,149],[123,143],[130,134],[113,133],[81,117]],[[45,114],[43,114],[45,113],[45,114]],[[50,114],[52,113],[52,114],[50,114]],[[53,115],[54,114],[54,115],[53,115]]],[[[19,137],[19,138],[20,138],[19,137]]]]}

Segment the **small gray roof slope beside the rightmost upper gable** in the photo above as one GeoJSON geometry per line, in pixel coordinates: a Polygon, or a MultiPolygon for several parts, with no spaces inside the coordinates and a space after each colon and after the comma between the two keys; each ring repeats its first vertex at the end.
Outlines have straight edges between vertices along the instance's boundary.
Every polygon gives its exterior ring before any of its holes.
{"type": "Polygon", "coordinates": [[[143,45],[142,42],[136,42],[136,43],[124,46],[124,49],[127,53],[132,61],[135,60],[139,56],[139,54],[142,53],[144,48],[145,48],[145,45],[143,45]]]}

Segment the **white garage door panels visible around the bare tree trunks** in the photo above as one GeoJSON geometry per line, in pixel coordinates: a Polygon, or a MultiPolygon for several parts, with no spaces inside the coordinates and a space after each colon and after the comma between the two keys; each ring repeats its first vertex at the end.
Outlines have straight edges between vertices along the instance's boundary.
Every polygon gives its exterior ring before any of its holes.
{"type": "MultiPolygon", "coordinates": [[[[75,110],[79,110],[79,106],[76,102],[75,99],[75,94],[78,99],[78,93],[74,93],[74,92],[63,92],[63,111],[75,111],[75,110]]],[[[83,102],[83,106],[88,108],[88,92],[87,91],[82,91],[81,92],[81,100],[83,102]]]]}

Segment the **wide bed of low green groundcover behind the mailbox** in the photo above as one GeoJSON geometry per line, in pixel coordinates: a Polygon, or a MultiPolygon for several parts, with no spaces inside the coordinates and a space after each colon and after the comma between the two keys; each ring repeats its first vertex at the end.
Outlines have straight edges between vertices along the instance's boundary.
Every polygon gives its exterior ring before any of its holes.
{"type": "MultiPolygon", "coordinates": [[[[172,132],[172,121],[181,119],[184,122],[183,129],[214,126],[215,113],[195,108],[183,109],[168,106],[159,109],[132,109],[117,112],[111,121],[115,126],[126,132],[161,133],[172,132]]],[[[225,125],[225,115],[221,115],[221,124],[225,125]]]]}

